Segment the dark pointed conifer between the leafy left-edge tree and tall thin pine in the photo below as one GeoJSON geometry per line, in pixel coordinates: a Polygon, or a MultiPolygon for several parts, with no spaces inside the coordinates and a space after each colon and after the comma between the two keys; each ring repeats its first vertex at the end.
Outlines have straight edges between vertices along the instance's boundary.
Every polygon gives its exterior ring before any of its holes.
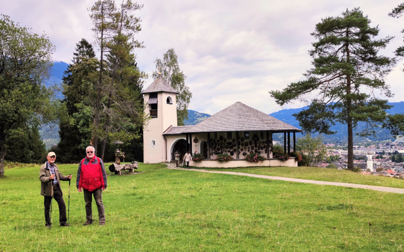
{"type": "MultiPolygon", "coordinates": [[[[88,95],[88,91],[82,85],[75,84],[72,75],[72,68],[75,64],[80,64],[83,58],[94,58],[95,53],[92,45],[86,39],[81,39],[76,44],[76,52],[73,53],[72,64],[68,66],[63,77],[65,98],[63,103],[67,107],[69,116],[73,117],[78,109],[75,104],[82,101],[83,96],[88,95]]],[[[59,130],[60,142],[54,149],[60,163],[78,163],[84,155],[82,140],[88,140],[88,135],[83,134],[77,127],[77,123],[69,121],[60,123],[59,130]]]]}

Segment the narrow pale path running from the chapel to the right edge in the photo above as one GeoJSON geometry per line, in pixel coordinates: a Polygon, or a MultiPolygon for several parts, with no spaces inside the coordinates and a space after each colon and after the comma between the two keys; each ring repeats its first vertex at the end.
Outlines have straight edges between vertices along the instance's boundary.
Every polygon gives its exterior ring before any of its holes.
{"type": "Polygon", "coordinates": [[[310,180],[310,179],[291,178],[291,177],[278,177],[278,176],[258,175],[258,174],[233,172],[233,171],[211,171],[211,170],[204,170],[204,169],[186,169],[186,168],[184,169],[184,168],[180,168],[180,167],[175,167],[175,163],[166,163],[166,164],[167,164],[167,168],[169,168],[169,169],[179,169],[179,170],[199,171],[199,172],[209,172],[209,173],[221,173],[221,174],[248,176],[248,177],[259,177],[259,178],[284,180],[284,181],[292,181],[292,182],[300,182],[300,183],[346,186],[346,187],[363,188],[363,189],[387,192],[387,193],[404,194],[404,188],[367,185],[367,184],[352,184],[352,183],[343,183],[343,182],[320,181],[320,180],[310,180]]]}

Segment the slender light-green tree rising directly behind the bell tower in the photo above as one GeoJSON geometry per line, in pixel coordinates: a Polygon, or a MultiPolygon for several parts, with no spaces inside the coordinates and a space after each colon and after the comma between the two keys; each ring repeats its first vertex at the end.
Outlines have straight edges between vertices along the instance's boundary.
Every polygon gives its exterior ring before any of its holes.
{"type": "Polygon", "coordinates": [[[161,72],[162,78],[170,83],[171,87],[177,90],[177,124],[185,125],[184,120],[188,119],[188,105],[192,98],[192,93],[188,86],[185,85],[186,75],[180,70],[178,64],[178,56],[174,48],[168,49],[163,54],[163,59],[156,58],[156,71],[153,72],[153,79],[159,77],[161,72]]]}

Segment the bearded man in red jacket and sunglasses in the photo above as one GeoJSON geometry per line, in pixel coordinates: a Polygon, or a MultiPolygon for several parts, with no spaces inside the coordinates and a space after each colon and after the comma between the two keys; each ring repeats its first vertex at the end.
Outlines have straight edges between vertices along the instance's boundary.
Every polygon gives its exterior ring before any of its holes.
{"type": "Polygon", "coordinates": [[[95,157],[94,147],[88,146],[87,156],[80,161],[77,170],[77,191],[83,191],[85,201],[85,213],[87,221],[83,225],[92,224],[92,195],[98,209],[99,225],[105,225],[105,210],[103,204],[103,191],[107,188],[107,174],[103,160],[95,157]]]}

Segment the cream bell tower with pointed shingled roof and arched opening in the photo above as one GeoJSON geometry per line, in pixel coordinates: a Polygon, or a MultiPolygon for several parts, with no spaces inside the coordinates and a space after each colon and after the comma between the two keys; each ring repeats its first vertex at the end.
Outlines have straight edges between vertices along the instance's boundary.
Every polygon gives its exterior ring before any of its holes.
{"type": "Polygon", "coordinates": [[[170,157],[166,157],[167,146],[163,133],[171,125],[177,126],[178,92],[159,73],[159,77],[141,94],[146,104],[144,112],[150,117],[143,125],[143,162],[166,162],[170,157]]]}

